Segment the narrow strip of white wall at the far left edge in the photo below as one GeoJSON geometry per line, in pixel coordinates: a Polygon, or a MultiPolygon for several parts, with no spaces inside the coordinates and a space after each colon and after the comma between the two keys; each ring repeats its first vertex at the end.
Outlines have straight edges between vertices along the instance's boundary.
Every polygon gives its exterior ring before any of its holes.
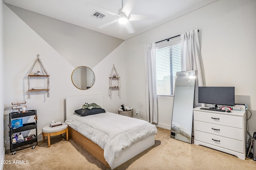
{"type": "MultiPolygon", "coordinates": [[[[0,3],[0,80],[4,80],[3,2],[0,3]]],[[[0,81],[0,160],[4,160],[4,81],[0,81]]],[[[0,164],[0,169],[4,168],[0,164]]]]}

